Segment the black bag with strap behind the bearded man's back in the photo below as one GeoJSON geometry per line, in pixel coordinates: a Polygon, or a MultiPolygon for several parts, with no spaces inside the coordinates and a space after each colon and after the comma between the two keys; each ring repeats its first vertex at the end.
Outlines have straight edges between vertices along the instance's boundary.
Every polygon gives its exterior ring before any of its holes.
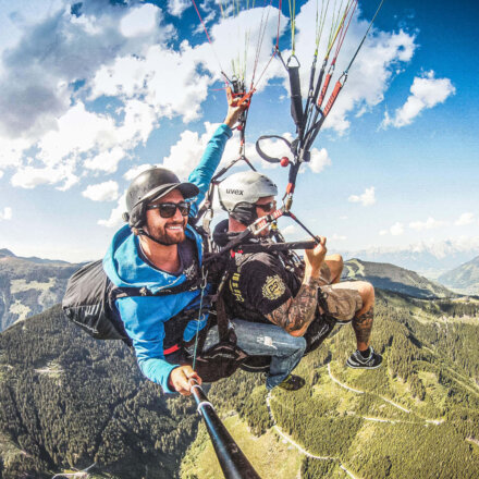
{"type": "Polygon", "coordinates": [[[102,261],[98,260],[85,265],[70,278],[62,308],[65,316],[90,336],[97,340],[123,340],[131,346],[132,340],[115,312],[114,302],[118,298],[167,296],[198,288],[197,279],[155,294],[146,287],[118,287],[107,277],[102,261]]]}

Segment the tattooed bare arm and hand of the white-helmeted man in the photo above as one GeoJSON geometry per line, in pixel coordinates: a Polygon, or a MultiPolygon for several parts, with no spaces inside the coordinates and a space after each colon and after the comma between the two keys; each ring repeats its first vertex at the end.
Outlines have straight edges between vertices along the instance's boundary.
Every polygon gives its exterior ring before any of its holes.
{"type": "Polygon", "coordinates": [[[319,274],[327,254],[326,238],[321,237],[315,249],[307,249],[305,253],[305,278],[296,296],[267,315],[271,322],[293,336],[303,336],[315,319],[319,274]]]}

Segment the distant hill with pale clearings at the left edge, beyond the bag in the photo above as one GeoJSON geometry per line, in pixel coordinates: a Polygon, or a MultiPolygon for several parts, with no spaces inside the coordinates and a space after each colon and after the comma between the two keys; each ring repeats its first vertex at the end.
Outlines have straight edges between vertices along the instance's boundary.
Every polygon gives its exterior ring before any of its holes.
{"type": "Polygon", "coordinates": [[[65,261],[20,258],[0,249],[0,331],[60,303],[69,278],[78,268],[65,261]]]}

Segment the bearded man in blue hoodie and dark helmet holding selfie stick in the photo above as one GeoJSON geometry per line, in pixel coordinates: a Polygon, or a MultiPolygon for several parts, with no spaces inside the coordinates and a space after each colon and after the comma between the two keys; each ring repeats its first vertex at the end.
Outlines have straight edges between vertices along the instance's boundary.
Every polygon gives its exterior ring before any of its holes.
{"type": "MultiPolygon", "coordinates": [[[[123,322],[143,373],[169,393],[189,395],[191,378],[201,383],[191,366],[180,364],[179,354],[180,345],[194,339],[200,300],[202,241],[188,217],[197,213],[243,110],[230,99],[226,119],[188,183],[159,167],[132,181],[123,217],[128,224],[116,232],[103,258],[111,282],[126,292],[112,312],[123,322]],[[144,288],[145,296],[128,296],[128,288],[144,288]]],[[[205,324],[206,319],[199,321],[199,329],[205,324]]]]}

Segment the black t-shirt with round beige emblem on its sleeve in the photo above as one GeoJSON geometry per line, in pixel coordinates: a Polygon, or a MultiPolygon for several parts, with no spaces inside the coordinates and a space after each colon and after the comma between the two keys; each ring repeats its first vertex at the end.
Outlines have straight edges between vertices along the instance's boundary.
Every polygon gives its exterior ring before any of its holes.
{"type": "Polygon", "coordinates": [[[230,317],[269,323],[266,315],[294,297],[300,281],[269,253],[236,255],[235,260],[236,271],[224,288],[230,317]]]}

